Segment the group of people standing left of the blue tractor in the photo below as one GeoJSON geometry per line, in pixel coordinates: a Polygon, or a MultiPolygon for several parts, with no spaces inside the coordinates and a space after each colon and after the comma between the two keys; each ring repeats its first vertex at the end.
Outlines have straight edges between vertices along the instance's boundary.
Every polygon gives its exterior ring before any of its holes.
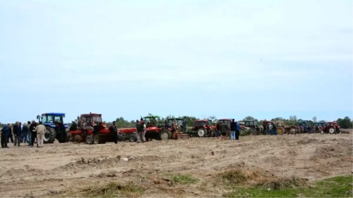
{"type": "Polygon", "coordinates": [[[37,147],[42,148],[44,144],[44,133],[46,127],[42,122],[36,123],[34,120],[27,123],[16,122],[15,124],[7,123],[1,133],[1,148],[9,148],[8,143],[13,143],[14,146],[20,146],[20,143],[28,143],[28,146],[33,147],[34,141],[37,139],[37,147]]]}

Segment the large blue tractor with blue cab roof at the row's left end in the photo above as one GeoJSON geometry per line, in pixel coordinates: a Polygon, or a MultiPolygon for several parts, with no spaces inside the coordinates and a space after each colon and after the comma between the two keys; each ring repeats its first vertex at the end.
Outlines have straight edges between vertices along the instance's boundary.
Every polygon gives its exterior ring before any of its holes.
{"type": "Polygon", "coordinates": [[[43,113],[37,116],[38,122],[42,121],[47,129],[44,134],[44,144],[54,143],[55,138],[60,143],[70,140],[70,133],[67,131],[68,124],[64,123],[64,117],[65,113],[43,113]]]}

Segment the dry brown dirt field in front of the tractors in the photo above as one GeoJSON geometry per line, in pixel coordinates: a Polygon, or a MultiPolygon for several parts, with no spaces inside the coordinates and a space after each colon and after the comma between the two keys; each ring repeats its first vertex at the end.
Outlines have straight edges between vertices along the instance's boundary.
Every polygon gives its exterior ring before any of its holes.
{"type": "Polygon", "coordinates": [[[109,188],[109,182],[125,189],[119,197],[221,197],[231,191],[223,185],[227,171],[247,172],[254,181],[291,176],[313,181],[352,174],[352,137],[302,134],[246,136],[239,142],[191,138],[54,143],[44,148],[10,145],[0,149],[0,197],[94,197],[102,191],[98,188],[109,188]]]}

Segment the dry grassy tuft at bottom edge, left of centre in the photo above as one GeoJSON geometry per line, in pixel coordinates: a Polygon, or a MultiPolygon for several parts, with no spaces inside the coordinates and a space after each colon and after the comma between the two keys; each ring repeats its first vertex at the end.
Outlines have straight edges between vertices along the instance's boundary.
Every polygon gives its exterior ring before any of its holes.
{"type": "Polygon", "coordinates": [[[89,198],[137,198],[140,197],[144,188],[141,186],[128,184],[119,184],[110,182],[104,186],[92,186],[83,190],[85,197],[89,198]]]}

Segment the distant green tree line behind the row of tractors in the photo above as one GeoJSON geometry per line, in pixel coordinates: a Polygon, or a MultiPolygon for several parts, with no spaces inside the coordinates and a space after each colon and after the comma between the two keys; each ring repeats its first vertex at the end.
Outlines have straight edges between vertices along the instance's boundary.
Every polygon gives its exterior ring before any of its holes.
{"type": "MultiPolygon", "coordinates": [[[[151,113],[148,114],[149,116],[152,116],[151,113]]],[[[161,117],[161,118],[157,118],[156,121],[157,122],[162,122],[164,123],[164,120],[170,119],[170,118],[183,118],[183,117],[174,117],[172,115],[169,115],[167,117],[161,117]]],[[[192,126],[193,123],[195,122],[195,120],[200,119],[197,117],[193,117],[193,116],[186,116],[186,121],[187,121],[187,125],[188,126],[192,126]]],[[[218,119],[215,116],[209,116],[207,118],[202,118],[202,119],[209,119],[212,120],[214,122],[216,122],[218,119]]],[[[237,120],[238,122],[245,122],[245,120],[257,120],[259,123],[261,123],[262,121],[267,121],[267,120],[258,120],[252,116],[247,116],[242,120],[237,120]]],[[[303,119],[297,119],[297,116],[289,116],[289,118],[282,118],[282,117],[276,117],[276,118],[272,118],[270,119],[270,121],[282,121],[285,122],[286,125],[293,125],[296,122],[301,122],[303,121],[303,119]]],[[[134,127],[136,124],[136,120],[125,120],[124,117],[120,117],[120,118],[116,118],[115,120],[116,125],[118,126],[118,128],[124,128],[124,127],[134,127]]],[[[312,120],[307,120],[307,123],[309,125],[312,125],[314,122],[323,122],[326,123],[326,120],[317,120],[316,117],[313,117],[312,120]]],[[[336,122],[339,124],[339,126],[343,129],[348,129],[348,128],[353,128],[353,120],[351,120],[348,116],[344,117],[344,118],[338,118],[336,120],[336,122]]],[[[108,124],[111,124],[112,122],[106,122],[108,124]]],[[[0,123],[0,127],[4,126],[3,123],[0,123]]]]}

